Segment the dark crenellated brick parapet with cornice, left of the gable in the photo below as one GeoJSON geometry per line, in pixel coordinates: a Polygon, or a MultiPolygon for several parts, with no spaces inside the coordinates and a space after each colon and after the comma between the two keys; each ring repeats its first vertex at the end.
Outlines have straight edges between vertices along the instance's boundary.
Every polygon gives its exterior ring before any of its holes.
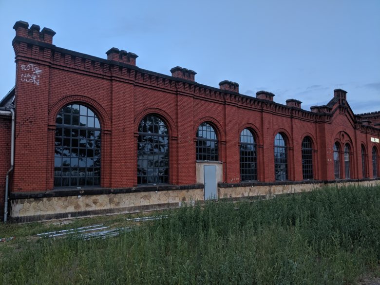
{"type": "MultiPolygon", "coordinates": [[[[328,121],[332,108],[329,106],[313,106],[311,112],[301,109],[301,101],[286,100],[286,105],[274,102],[273,93],[259,91],[256,98],[239,93],[239,84],[224,80],[219,82],[219,88],[199,84],[195,81],[196,72],[176,66],[172,68],[171,76],[144,70],[136,66],[136,54],[111,48],[106,52],[107,58],[93,57],[53,45],[56,34],[48,28],[32,25],[27,22],[16,22],[14,29],[16,37],[13,44],[16,58],[28,61],[45,62],[54,68],[91,74],[102,78],[115,78],[141,86],[164,89],[165,92],[190,95],[222,104],[234,104],[241,108],[267,110],[285,116],[298,117],[304,120],[328,121]],[[327,115],[327,117],[326,117],[327,115]]],[[[338,90],[339,91],[339,90],[338,90]]],[[[343,94],[337,90],[334,95],[343,94]]]]}

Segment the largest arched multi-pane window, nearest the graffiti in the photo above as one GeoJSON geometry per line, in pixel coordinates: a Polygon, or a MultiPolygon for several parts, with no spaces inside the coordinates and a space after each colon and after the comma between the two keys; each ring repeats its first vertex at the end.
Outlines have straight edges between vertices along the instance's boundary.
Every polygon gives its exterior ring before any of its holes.
{"type": "Polygon", "coordinates": [[[100,185],[100,123],[90,108],[70,104],[56,119],[54,187],[100,185]]]}

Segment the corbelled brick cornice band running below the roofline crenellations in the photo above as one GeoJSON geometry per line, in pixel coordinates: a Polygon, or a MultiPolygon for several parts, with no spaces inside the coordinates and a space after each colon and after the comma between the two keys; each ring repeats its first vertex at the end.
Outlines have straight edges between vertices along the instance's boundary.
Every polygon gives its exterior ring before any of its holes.
{"type": "Polygon", "coordinates": [[[203,85],[196,81],[155,73],[131,64],[90,56],[31,38],[17,36],[13,39],[13,44],[16,59],[50,61],[54,68],[89,73],[93,76],[120,80],[149,88],[164,89],[169,92],[174,91],[180,95],[191,95],[195,98],[237,105],[247,109],[268,110],[276,114],[293,116],[302,120],[326,120],[326,116],[331,115],[289,107],[273,101],[203,85]],[[20,49],[18,45],[23,45],[23,49],[20,49]],[[39,50],[38,57],[36,57],[36,47],[39,50]],[[32,54],[33,48],[35,49],[34,56],[32,54]]]}

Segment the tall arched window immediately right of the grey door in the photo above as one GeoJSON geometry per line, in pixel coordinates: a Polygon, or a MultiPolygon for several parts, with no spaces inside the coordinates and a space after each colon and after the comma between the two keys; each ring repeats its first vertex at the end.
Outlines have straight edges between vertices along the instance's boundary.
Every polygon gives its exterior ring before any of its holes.
{"type": "Polygon", "coordinates": [[[257,180],[257,152],[255,138],[251,131],[240,133],[240,179],[257,180]]]}

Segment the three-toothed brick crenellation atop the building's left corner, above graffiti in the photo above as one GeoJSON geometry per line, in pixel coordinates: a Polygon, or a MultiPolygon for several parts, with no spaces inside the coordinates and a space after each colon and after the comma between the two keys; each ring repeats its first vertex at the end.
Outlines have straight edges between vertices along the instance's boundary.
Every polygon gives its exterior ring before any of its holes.
{"type": "Polygon", "coordinates": [[[38,25],[31,25],[29,29],[29,23],[24,21],[17,21],[13,26],[16,30],[16,37],[30,38],[45,43],[53,43],[53,37],[56,34],[52,29],[43,28],[39,31],[40,27],[38,25]]]}

